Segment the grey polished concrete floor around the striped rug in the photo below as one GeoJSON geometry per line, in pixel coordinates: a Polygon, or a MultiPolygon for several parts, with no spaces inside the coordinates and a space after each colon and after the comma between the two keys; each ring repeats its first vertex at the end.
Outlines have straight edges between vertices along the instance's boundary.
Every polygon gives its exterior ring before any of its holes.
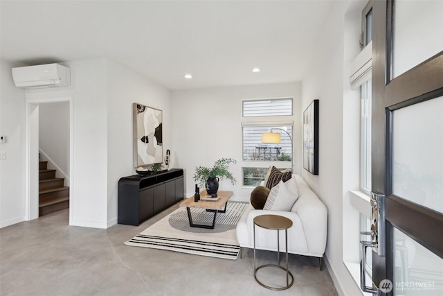
{"type": "MultiPolygon", "coordinates": [[[[337,295],[318,259],[289,254],[294,284],[268,290],[254,279],[253,250],[242,259],[215,259],[124,244],[177,204],[138,227],[69,226],[69,210],[0,229],[0,295],[337,295]]],[[[284,258],[284,257],[283,257],[284,258]]],[[[257,251],[257,265],[276,253],[257,251]]],[[[284,284],[282,270],[264,268],[265,284],[284,284]]]]}

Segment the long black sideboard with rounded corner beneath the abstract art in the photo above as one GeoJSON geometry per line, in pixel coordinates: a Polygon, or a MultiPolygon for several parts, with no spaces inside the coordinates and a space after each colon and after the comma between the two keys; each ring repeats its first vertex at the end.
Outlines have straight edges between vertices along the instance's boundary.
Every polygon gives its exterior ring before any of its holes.
{"type": "Polygon", "coordinates": [[[118,181],[118,224],[138,225],[183,200],[183,169],[132,175],[118,181]]]}

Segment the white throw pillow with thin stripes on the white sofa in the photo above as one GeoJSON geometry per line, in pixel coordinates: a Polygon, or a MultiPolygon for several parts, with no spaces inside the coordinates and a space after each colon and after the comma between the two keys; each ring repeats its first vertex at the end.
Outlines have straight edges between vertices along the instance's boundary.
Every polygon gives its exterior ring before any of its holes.
{"type": "MultiPolygon", "coordinates": [[[[287,182],[289,182],[289,180],[287,182]]],[[[286,184],[284,184],[283,181],[280,181],[277,185],[272,187],[263,209],[272,211],[291,211],[297,198],[298,195],[292,193],[287,188],[286,184]]]]}

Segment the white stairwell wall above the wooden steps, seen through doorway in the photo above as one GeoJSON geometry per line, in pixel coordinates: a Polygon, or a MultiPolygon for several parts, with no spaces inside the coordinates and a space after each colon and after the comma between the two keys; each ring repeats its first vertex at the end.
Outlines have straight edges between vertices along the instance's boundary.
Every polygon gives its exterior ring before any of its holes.
{"type": "Polygon", "coordinates": [[[69,186],[69,102],[39,104],[39,148],[69,186]]]}

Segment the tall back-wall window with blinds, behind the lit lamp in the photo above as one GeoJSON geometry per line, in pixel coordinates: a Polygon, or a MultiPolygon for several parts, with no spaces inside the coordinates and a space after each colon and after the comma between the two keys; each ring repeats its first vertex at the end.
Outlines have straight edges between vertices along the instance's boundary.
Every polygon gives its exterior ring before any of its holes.
{"type": "Polygon", "coordinates": [[[243,101],[242,166],[243,185],[257,186],[269,166],[292,168],[293,100],[275,98],[243,101]],[[280,134],[278,143],[262,141],[264,133],[280,134]]]}

